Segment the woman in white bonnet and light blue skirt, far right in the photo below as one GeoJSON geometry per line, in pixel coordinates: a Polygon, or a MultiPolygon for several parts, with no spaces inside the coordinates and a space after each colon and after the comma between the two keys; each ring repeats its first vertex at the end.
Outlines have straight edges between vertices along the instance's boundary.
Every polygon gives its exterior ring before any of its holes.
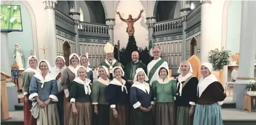
{"type": "Polygon", "coordinates": [[[203,77],[197,87],[197,102],[193,125],[223,125],[221,106],[226,97],[222,84],[212,74],[212,64],[201,65],[203,77]]]}

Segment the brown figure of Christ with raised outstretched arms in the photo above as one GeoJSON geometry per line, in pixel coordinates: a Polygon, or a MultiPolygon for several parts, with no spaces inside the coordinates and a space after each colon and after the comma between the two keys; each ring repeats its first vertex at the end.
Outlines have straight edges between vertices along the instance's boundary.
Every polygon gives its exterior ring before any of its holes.
{"type": "Polygon", "coordinates": [[[122,21],[126,22],[126,24],[127,24],[127,26],[128,26],[127,29],[126,29],[126,32],[128,33],[129,37],[134,35],[134,31],[135,31],[135,30],[134,30],[133,24],[134,24],[134,22],[136,22],[137,20],[139,20],[139,19],[141,18],[141,14],[143,13],[143,11],[144,11],[144,10],[142,9],[142,10],[140,11],[139,16],[138,16],[137,18],[135,18],[135,19],[133,19],[133,17],[132,17],[131,14],[129,15],[129,18],[128,18],[128,19],[123,19],[122,16],[120,15],[119,11],[116,12],[116,14],[119,15],[119,18],[120,18],[122,21]]]}

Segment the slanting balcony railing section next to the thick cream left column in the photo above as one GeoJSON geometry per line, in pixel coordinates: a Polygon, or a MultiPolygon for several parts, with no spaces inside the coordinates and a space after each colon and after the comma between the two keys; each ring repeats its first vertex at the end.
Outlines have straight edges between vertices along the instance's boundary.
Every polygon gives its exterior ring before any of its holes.
{"type": "Polygon", "coordinates": [[[68,27],[74,28],[74,19],[57,8],[55,8],[55,19],[68,27]]]}

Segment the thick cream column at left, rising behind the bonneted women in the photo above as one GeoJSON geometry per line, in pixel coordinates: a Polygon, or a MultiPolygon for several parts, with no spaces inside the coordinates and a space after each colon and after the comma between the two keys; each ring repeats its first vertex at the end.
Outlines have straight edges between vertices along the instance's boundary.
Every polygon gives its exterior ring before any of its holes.
{"type": "MultiPolygon", "coordinates": [[[[55,25],[55,4],[57,0],[44,0],[44,9],[46,12],[46,24],[48,39],[45,50],[46,59],[50,62],[51,66],[55,66],[55,59],[57,56],[57,42],[56,42],[56,25],[55,25]]],[[[42,48],[42,47],[39,47],[42,48]]]]}

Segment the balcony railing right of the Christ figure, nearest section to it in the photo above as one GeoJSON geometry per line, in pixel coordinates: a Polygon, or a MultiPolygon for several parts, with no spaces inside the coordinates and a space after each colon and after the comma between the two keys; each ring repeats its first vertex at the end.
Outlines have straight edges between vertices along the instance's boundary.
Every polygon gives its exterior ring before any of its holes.
{"type": "Polygon", "coordinates": [[[179,29],[182,28],[182,19],[170,19],[170,20],[165,20],[161,22],[156,22],[154,24],[154,32],[161,32],[161,31],[166,31],[166,30],[173,30],[173,29],[179,29]]]}

